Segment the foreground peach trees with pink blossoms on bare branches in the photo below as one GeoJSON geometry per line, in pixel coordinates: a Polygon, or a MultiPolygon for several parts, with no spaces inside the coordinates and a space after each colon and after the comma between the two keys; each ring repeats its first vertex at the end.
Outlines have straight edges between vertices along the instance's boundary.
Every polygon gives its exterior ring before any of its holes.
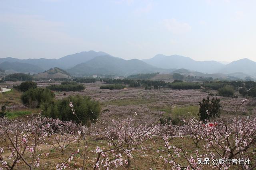
{"type": "MultiPolygon", "coordinates": [[[[77,117],[72,102],[70,109],[77,117]]],[[[163,141],[164,149],[154,150],[154,153],[166,152],[165,156],[160,156],[165,169],[256,168],[256,118],[236,116],[228,123],[214,119],[202,122],[192,118],[183,119],[181,125],[173,125],[153,119],[138,121],[134,119],[137,113],[125,119],[105,114],[108,115],[98,118],[90,127],[83,125],[82,121],[61,121],[40,114],[26,122],[0,119],[0,169],[45,169],[45,164],[41,163],[49,155],[45,146],[55,149],[60,155],[68,155],[63,161],[56,162],[54,169],[57,170],[130,168],[134,154],[145,156],[156,139],[163,141]],[[188,138],[194,143],[192,152],[186,149],[188,138]],[[181,145],[176,146],[174,139],[178,139],[181,145]],[[103,146],[92,149],[94,141],[101,141],[103,146]],[[67,149],[71,146],[72,151],[67,149]],[[74,161],[78,154],[81,157],[79,167],[74,161]],[[209,161],[202,163],[202,160],[209,161]],[[212,164],[211,160],[247,162],[212,164]]]]}

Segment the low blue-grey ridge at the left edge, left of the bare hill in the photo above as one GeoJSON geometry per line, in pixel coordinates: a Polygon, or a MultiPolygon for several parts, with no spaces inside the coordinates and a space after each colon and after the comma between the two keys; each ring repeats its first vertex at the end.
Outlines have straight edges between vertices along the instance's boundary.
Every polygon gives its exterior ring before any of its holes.
{"type": "Polygon", "coordinates": [[[20,72],[20,73],[38,73],[44,71],[42,68],[28,63],[20,63],[20,62],[8,62],[5,61],[0,63],[0,68],[2,70],[8,70],[10,72],[20,72]]]}

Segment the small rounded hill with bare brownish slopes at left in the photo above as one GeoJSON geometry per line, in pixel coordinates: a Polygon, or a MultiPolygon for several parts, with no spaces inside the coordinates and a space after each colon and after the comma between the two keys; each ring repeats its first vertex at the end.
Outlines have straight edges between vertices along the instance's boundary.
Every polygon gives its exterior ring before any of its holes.
{"type": "Polygon", "coordinates": [[[45,72],[35,74],[34,78],[35,79],[63,79],[63,78],[71,78],[71,76],[65,70],[55,67],[45,72]]]}

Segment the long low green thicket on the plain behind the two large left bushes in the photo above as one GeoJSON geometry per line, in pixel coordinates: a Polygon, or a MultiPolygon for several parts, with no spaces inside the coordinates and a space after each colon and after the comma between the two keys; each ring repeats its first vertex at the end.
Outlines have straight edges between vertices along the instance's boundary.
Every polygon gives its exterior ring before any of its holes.
{"type": "Polygon", "coordinates": [[[82,84],[78,84],[77,82],[62,82],[60,85],[51,85],[47,86],[46,88],[50,90],[55,90],[55,91],[64,91],[64,92],[69,92],[69,91],[82,91],[84,90],[84,86],[82,84]]]}

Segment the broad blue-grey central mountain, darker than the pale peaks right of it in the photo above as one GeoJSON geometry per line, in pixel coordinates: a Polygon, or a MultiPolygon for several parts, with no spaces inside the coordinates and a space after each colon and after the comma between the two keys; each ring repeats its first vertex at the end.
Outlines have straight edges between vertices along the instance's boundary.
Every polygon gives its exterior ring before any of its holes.
{"type": "Polygon", "coordinates": [[[67,71],[72,75],[92,75],[92,74],[114,74],[127,76],[138,73],[153,73],[164,69],[154,67],[138,59],[124,60],[109,55],[95,57],[94,59],[77,64],[67,71]]]}

